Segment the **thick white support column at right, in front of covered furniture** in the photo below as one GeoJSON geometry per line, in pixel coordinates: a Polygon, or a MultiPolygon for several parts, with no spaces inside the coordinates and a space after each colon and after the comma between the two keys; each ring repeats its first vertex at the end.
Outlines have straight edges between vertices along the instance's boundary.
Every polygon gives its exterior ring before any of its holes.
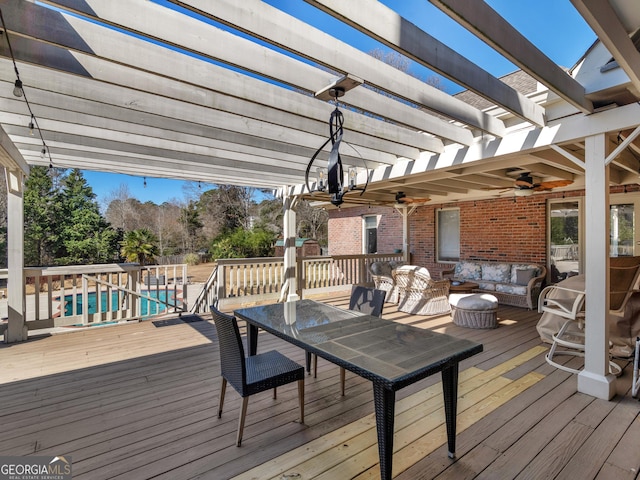
{"type": "Polygon", "coordinates": [[[610,400],[615,377],[609,373],[609,168],[605,136],[585,139],[585,366],[578,391],[610,400]]]}

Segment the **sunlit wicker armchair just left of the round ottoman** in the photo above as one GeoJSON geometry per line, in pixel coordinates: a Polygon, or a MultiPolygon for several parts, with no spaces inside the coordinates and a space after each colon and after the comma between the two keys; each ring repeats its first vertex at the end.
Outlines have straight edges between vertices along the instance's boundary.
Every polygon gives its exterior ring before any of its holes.
{"type": "Polygon", "coordinates": [[[449,313],[449,280],[433,280],[424,267],[396,268],[393,278],[398,288],[398,310],[414,315],[449,313]]]}

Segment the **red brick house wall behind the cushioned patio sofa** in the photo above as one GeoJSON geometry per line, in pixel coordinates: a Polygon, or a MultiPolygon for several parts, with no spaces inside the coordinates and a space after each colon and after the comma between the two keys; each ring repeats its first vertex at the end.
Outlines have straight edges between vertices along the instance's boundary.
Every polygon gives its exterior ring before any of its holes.
{"type": "MultiPolygon", "coordinates": [[[[613,193],[613,192],[612,192],[613,193]]],[[[565,193],[565,197],[583,195],[565,193]]],[[[546,200],[562,193],[504,197],[418,207],[409,217],[411,262],[432,275],[450,264],[435,262],[435,215],[439,208],[460,209],[460,258],[546,264],[546,200]]],[[[402,217],[393,207],[356,207],[329,214],[329,254],[362,253],[362,216],[380,215],[378,253],[402,248],[402,217]]]]}

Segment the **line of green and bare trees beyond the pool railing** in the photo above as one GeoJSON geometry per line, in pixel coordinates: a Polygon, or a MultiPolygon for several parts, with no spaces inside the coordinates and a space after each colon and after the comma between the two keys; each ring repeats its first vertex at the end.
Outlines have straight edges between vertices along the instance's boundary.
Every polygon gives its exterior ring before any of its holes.
{"type": "MultiPolygon", "coordinates": [[[[1,184],[0,263],[6,268],[7,195],[1,184]]],[[[327,213],[306,202],[297,213],[298,236],[326,245],[327,213]]],[[[24,189],[24,261],[53,266],[150,263],[175,255],[187,263],[202,256],[272,256],[282,216],[281,200],[270,192],[232,185],[201,191],[195,184],[183,199],[159,205],[140,202],[123,184],[102,212],[82,171],[35,166],[24,189]]]]}

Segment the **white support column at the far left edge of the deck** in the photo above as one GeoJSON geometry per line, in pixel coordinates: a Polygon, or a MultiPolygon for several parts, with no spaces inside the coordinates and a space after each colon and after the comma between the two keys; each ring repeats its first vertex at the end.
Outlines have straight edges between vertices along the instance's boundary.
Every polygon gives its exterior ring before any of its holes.
{"type": "Polygon", "coordinates": [[[4,332],[5,343],[27,340],[24,291],[24,207],[25,175],[20,170],[5,168],[7,179],[7,256],[9,280],[7,303],[9,321],[4,332]]]}

